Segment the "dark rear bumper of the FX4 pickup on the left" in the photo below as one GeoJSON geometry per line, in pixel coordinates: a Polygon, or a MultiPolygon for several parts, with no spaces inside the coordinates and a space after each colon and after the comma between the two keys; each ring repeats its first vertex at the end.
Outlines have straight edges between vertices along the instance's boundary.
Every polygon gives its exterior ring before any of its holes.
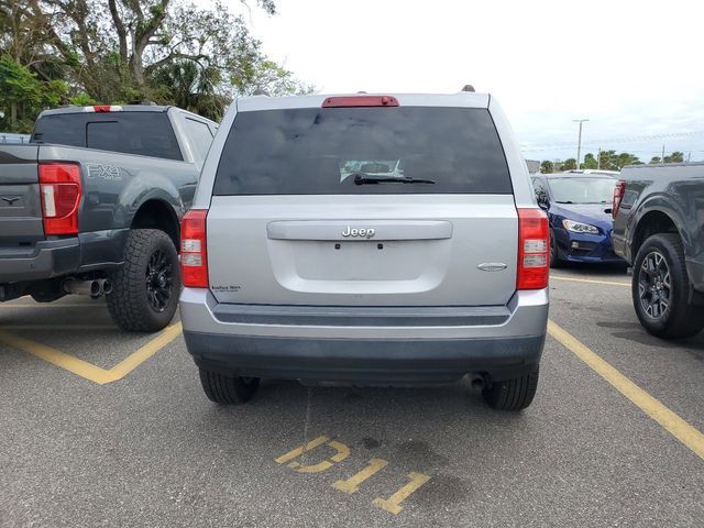
{"type": "Polygon", "coordinates": [[[58,277],[80,265],[78,238],[46,240],[32,249],[0,249],[0,284],[58,277]]]}

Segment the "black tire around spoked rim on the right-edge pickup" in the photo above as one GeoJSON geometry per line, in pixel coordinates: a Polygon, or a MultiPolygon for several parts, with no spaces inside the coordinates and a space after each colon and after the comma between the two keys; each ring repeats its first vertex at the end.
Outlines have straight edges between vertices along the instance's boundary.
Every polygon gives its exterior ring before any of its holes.
{"type": "Polygon", "coordinates": [[[682,240],[676,233],[649,237],[634,260],[631,296],[636,315],[642,327],[652,336],[663,339],[684,339],[696,336],[704,328],[704,309],[689,304],[690,277],[686,273],[682,240]],[[659,318],[651,317],[640,301],[639,277],[644,261],[657,252],[664,256],[670,272],[668,309],[659,318]]]}

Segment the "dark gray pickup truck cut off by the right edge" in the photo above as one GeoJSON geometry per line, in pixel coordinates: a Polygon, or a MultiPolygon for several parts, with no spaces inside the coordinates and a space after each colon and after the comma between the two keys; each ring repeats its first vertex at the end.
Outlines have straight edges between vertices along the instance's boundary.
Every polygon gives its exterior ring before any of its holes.
{"type": "Polygon", "coordinates": [[[634,266],[632,299],[653,336],[704,328],[704,163],[625,167],[614,191],[614,251],[634,266]]]}

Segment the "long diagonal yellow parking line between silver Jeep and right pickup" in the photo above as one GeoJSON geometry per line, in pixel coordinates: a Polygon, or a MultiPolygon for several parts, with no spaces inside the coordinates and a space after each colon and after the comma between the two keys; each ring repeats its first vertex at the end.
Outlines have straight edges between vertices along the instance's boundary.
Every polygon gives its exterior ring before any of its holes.
{"type": "Polygon", "coordinates": [[[554,322],[548,321],[548,332],[586,363],[594,372],[606,380],[614,388],[637,405],[640,410],[660,424],[668,432],[690,448],[694,453],[704,459],[704,435],[702,435],[702,432],[684,421],[658,399],[650,396],[650,394],[554,322]]]}

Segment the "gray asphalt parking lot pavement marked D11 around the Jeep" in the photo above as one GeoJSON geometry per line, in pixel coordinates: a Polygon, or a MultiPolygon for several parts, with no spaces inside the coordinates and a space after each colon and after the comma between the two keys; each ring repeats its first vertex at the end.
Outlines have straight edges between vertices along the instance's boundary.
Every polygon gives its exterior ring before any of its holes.
{"type": "Polygon", "coordinates": [[[628,283],[553,273],[539,392],[518,415],[463,384],[265,381],[218,407],[178,321],[125,334],[101,302],[0,305],[0,526],[698,526],[704,336],[649,337],[628,283]],[[42,346],[125,366],[100,384],[42,346]]]}

